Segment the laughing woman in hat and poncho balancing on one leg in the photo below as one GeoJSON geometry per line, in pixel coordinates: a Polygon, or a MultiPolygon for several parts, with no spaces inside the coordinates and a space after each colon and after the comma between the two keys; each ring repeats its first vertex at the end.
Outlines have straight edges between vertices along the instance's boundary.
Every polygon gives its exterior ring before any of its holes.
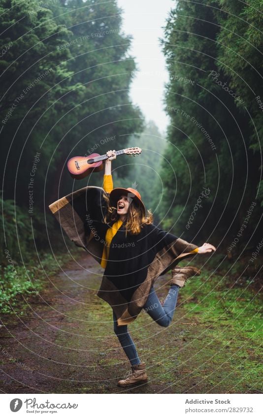
{"type": "Polygon", "coordinates": [[[142,309],[161,326],[168,326],[175,311],[178,292],[185,281],[198,275],[196,267],[175,267],[181,259],[215,251],[211,244],[190,244],[152,224],[140,194],[132,189],[113,189],[111,161],[107,152],[103,188],[86,187],[49,207],[67,235],[86,249],[105,269],[98,296],[113,310],[114,332],[132,370],[118,386],[147,381],[128,324],[142,309]],[[162,306],[153,288],[156,279],[171,270],[170,289],[162,306]]]}

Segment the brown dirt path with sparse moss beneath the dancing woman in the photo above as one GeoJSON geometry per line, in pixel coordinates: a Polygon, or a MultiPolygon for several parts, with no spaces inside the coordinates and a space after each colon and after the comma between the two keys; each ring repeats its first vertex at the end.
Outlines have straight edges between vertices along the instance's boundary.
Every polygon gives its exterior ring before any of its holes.
{"type": "MultiPolygon", "coordinates": [[[[184,289],[168,328],[158,326],[144,312],[129,327],[147,364],[149,382],[125,390],[117,387],[130,366],[113,333],[112,310],[96,295],[101,274],[90,256],[70,262],[30,303],[26,317],[0,328],[2,392],[243,393],[258,389],[242,379],[236,347],[226,348],[220,335],[214,338],[215,327],[220,329],[224,322],[201,323],[198,314],[188,315],[184,289]]],[[[167,293],[166,281],[162,277],[157,282],[160,297],[167,293]]]]}

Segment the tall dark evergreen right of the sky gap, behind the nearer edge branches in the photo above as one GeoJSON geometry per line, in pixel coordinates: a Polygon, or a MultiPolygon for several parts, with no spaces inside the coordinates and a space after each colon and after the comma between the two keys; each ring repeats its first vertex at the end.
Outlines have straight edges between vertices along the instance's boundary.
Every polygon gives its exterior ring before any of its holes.
{"type": "Polygon", "coordinates": [[[238,231],[255,198],[260,175],[259,159],[250,149],[249,119],[240,109],[243,96],[239,91],[230,95],[230,77],[219,71],[221,22],[222,12],[204,1],[178,1],[167,21],[166,110],[171,124],[164,155],[173,169],[163,166],[162,215],[168,213],[163,225],[176,234],[205,240],[212,234],[226,247],[226,235],[238,231]],[[197,208],[203,188],[209,195],[197,208]]]}

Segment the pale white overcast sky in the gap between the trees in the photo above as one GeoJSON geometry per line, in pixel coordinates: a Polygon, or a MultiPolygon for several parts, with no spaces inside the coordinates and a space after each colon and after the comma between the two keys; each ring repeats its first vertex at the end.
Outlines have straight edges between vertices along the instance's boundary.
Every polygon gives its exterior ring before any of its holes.
{"type": "Polygon", "coordinates": [[[123,30],[133,36],[131,55],[138,71],[131,96],[146,120],[152,119],[164,132],[168,117],[164,112],[164,83],[168,80],[164,54],[159,38],[163,38],[165,20],[175,5],[174,0],[118,0],[124,11],[123,30]]]}

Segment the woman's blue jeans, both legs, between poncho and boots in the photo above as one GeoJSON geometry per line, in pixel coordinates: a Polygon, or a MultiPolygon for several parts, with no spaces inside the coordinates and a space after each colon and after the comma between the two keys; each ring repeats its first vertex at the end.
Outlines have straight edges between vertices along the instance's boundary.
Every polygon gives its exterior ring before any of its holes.
{"type": "MultiPolygon", "coordinates": [[[[175,311],[178,292],[180,287],[177,285],[172,285],[168,291],[164,305],[162,306],[158,296],[152,287],[148,296],[148,299],[143,307],[145,312],[150,315],[150,317],[161,326],[168,326],[171,321],[175,311]]],[[[132,366],[140,363],[139,356],[137,354],[135,345],[132,341],[132,338],[128,332],[127,325],[117,325],[116,315],[113,312],[113,322],[114,322],[114,332],[117,335],[122,348],[125,351],[125,354],[129,358],[132,366]]]]}

